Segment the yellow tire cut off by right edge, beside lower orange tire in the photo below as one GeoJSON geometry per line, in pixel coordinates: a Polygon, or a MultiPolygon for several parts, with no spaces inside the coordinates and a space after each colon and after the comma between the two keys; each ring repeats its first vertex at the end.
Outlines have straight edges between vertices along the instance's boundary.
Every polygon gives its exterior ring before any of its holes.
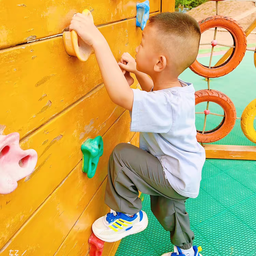
{"type": "Polygon", "coordinates": [[[256,131],[253,127],[256,116],[256,99],[253,100],[243,111],[241,118],[241,128],[247,139],[256,143],[256,131]]]}

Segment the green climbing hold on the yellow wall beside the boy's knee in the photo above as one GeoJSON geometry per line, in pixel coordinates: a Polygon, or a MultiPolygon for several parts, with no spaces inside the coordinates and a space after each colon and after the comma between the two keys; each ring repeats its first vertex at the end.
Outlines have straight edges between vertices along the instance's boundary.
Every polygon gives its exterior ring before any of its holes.
{"type": "Polygon", "coordinates": [[[103,155],[103,140],[101,136],[95,139],[87,139],[81,146],[83,153],[82,171],[87,173],[89,179],[93,178],[103,155]]]}

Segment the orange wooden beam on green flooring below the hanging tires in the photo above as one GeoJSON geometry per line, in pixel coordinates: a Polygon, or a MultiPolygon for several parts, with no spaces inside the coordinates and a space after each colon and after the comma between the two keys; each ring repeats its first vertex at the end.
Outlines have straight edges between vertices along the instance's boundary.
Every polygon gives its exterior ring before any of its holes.
{"type": "Polygon", "coordinates": [[[256,160],[256,147],[204,145],[206,158],[256,160]]]}

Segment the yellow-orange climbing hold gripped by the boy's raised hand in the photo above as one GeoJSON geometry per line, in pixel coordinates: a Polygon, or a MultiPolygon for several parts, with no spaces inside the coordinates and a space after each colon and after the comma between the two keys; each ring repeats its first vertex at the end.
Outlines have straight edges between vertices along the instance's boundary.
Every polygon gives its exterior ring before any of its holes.
{"type": "MultiPolygon", "coordinates": [[[[85,9],[82,13],[92,19],[93,22],[93,17],[89,10],[85,9]]],[[[84,43],[75,30],[63,32],[63,43],[66,52],[69,55],[76,56],[81,61],[86,61],[94,53],[93,48],[84,43]]]]}

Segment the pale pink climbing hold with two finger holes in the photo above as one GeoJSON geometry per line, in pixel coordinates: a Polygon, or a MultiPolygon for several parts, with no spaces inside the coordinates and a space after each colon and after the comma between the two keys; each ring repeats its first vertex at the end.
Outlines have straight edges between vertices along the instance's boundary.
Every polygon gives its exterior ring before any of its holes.
{"type": "Polygon", "coordinates": [[[37,163],[34,149],[22,150],[18,132],[0,135],[0,194],[14,191],[18,180],[30,175],[37,163]]]}

